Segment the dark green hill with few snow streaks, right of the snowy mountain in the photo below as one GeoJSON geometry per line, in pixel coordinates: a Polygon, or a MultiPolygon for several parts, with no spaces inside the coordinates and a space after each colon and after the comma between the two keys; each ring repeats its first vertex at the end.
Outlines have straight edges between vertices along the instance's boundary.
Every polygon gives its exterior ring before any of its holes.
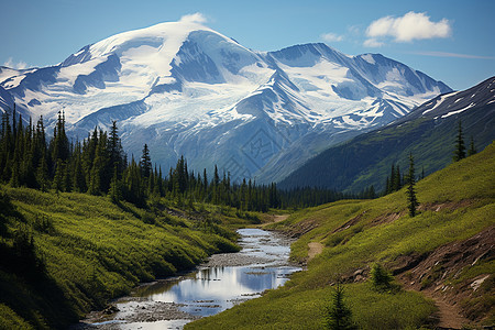
{"type": "Polygon", "coordinates": [[[373,185],[384,188],[392,164],[407,167],[413,153],[417,173],[428,175],[452,162],[458,123],[464,142],[471,138],[477,151],[495,139],[495,77],[463,91],[444,94],[417,107],[385,128],[330,147],[308,161],[278,185],[360,191],[373,185]]]}

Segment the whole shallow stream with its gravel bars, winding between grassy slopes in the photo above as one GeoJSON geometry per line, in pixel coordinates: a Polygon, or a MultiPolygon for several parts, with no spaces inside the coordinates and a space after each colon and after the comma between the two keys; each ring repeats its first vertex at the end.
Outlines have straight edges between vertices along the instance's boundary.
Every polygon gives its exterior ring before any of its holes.
{"type": "Polygon", "coordinates": [[[183,329],[260,297],[300,271],[288,262],[292,241],[286,237],[261,229],[238,233],[240,252],[215,254],[187,275],[142,285],[117,300],[110,315],[90,314],[79,329],[183,329]]]}

